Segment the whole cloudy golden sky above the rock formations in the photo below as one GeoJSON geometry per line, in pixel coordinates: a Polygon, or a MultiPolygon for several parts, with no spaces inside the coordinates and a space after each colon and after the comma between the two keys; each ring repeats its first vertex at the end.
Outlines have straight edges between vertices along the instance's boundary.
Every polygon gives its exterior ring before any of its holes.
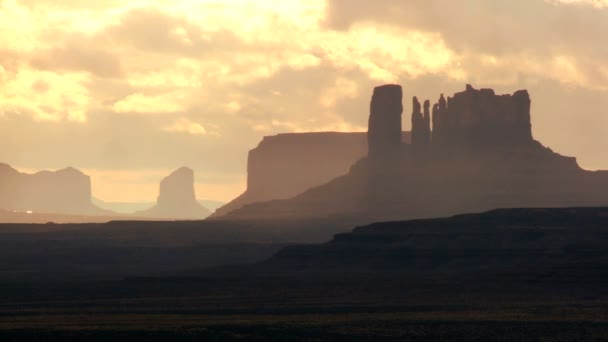
{"type": "Polygon", "coordinates": [[[528,89],[533,134],[608,169],[608,0],[0,0],[0,162],[76,167],[106,201],[196,172],[245,189],[284,132],[365,131],[374,86],[528,89]]]}

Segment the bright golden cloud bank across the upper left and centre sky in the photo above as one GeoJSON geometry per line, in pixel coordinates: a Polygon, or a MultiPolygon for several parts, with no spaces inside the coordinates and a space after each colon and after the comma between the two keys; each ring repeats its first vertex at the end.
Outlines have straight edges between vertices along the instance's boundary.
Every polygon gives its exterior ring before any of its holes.
{"type": "MultiPolygon", "coordinates": [[[[58,101],[56,93],[50,99],[33,94],[35,89],[24,86],[27,80],[13,85],[29,99],[27,111],[36,118],[86,120],[87,105],[107,96],[84,79],[118,77],[132,88],[126,97],[117,94],[124,98],[110,107],[115,112],[180,112],[192,104],[189,99],[199,105],[232,102],[205,96],[211,85],[245,86],[284,69],[328,63],[395,82],[443,72],[458,59],[436,33],[373,23],[346,32],[326,30],[324,0],[7,0],[0,6],[0,39],[23,59],[18,74],[27,76],[20,77],[59,75],[65,80],[57,84],[54,77],[53,84],[75,91],[68,96],[73,99],[58,101]]],[[[17,107],[17,100],[0,97],[17,107]]]]}

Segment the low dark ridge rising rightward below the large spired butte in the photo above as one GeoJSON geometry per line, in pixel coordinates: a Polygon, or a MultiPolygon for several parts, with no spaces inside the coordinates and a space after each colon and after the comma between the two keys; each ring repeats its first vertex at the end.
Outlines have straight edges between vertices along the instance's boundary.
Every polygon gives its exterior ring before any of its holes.
{"type": "Polygon", "coordinates": [[[287,247],[272,272],[383,273],[414,278],[539,277],[608,285],[608,209],[497,209],[450,218],[374,223],[323,245],[287,247]]]}

